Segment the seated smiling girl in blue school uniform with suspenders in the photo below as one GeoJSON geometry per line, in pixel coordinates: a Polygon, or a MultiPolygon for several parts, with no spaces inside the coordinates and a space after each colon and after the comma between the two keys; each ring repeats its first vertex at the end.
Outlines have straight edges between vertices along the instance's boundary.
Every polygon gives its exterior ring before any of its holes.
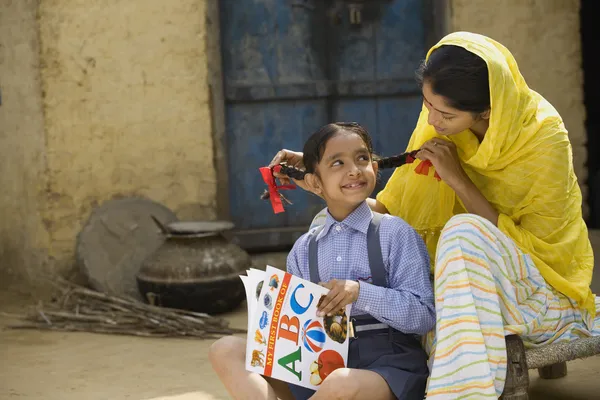
{"type": "Polygon", "coordinates": [[[210,359],[235,399],[423,399],[427,356],[417,335],[435,324],[429,256],[408,224],[367,205],[378,169],[372,153],[369,134],[355,123],[326,125],[308,139],[304,184],[325,199],[327,216],[287,260],[289,273],[330,289],[321,316],[353,304],[348,368],[314,392],[246,371],[245,340],[225,337],[210,359]]]}

